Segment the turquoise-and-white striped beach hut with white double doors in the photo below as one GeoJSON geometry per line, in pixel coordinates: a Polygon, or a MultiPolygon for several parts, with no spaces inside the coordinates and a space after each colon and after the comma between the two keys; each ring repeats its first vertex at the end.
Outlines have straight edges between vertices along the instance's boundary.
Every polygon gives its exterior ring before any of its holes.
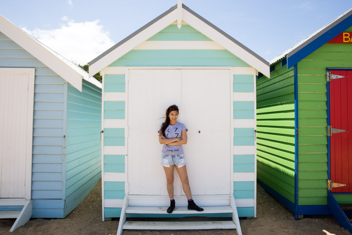
{"type": "MultiPolygon", "coordinates": [[[[256,216],[257,71],[269,62],[181,4],[89,62],[103,76],[102,219],[123,229],[237,228],[256,216]],[[193,198],[204,214],[170,215],[157,131],[180,107],[193,198]],[[227,222],[125,222],[127,217],[232,216],[227,222]]],[[[175,174],[176,171],[175,171],[175,174]]],[[[177,206],[187,205],[175,176],[177,206]]]]}

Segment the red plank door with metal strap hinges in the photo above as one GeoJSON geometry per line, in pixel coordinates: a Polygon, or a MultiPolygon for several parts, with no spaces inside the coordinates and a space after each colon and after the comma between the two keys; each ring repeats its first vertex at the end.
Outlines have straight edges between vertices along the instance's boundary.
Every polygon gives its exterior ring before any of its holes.
{"type": "Polygon", "coordinates": [[[349,193],[352,192],[352,71],[330,72],[345,76],[330,82],[330,125],[335,129],[346,130],[332,134],[330,138],[331,180],[346,184],[332,188],[331,192],[349,193]]]}

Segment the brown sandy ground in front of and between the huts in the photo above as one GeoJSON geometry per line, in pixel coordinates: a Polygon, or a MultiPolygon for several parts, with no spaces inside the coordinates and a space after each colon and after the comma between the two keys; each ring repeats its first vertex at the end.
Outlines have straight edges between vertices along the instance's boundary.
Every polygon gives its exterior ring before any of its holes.
{"type": "MultiPolygon", "coordinates": [[[[224,218],[218,218],[223,220],[224,218]]],[[[241,218],[240,218],[241,219],[241,218]]],[[[214,218],[186,217],[168,221],[214,220],[214,218]]],[[[115,235],[118,221],[101,221],[101,181],[83,202],[64,219],[31,219],[13,233],[9,230],[15,219],[0,219],[0,235],[115,235]]],[[[165,219],[166,221],[166,219],[165,219]]],[[[257,217],[241,219],[243,235],[299,235],[299,234],[346,234],[331,215],[305,216],[295,221],[294,214],[257,185],[257,217]],[[324,232],[326,230],[327,232],[324,232]]],[[[234,229],[214,230],[124,230],[124,235],[167,234],[167,235],[235,235],[234,229]]]]}

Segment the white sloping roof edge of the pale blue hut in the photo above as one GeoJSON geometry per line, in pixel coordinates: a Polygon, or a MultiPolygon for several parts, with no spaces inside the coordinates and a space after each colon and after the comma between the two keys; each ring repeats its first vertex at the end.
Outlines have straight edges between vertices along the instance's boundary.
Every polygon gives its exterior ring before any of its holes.
{"type": "MultiPolygon", "coordinates": [[[[0,15],[0,32],[82,92],[82,79],[102,88],[95,78],[0,15]]],[[[94,74],[93,74],[94,75],[94,74]]]]}

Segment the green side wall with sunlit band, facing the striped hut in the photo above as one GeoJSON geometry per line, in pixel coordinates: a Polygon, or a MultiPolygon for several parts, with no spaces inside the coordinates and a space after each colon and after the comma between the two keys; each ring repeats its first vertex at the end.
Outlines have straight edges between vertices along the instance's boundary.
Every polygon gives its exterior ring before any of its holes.
{"type": "Polygon", "coordinates": [[[257,80],[257,178],[294,202],[294,72],[275,64],[257,80]]]}

